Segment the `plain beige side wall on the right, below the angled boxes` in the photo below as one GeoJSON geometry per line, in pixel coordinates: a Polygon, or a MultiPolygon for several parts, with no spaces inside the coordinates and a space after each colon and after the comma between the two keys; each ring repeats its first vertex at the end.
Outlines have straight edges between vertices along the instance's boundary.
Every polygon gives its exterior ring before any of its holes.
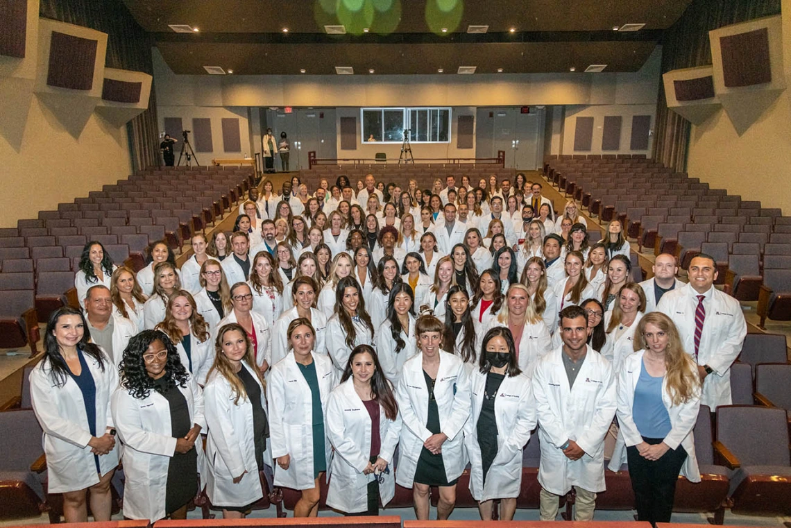
{"type": "MultiPolygon", "coordinates": [[[[791,86],[791,0],[782,2],[785,85],[791,86]]],[[[791,214],[791,89],[786,88],[744,134],[725,110],[692,126],[687,172],[711,187],[781,207],[791,214]]]]}

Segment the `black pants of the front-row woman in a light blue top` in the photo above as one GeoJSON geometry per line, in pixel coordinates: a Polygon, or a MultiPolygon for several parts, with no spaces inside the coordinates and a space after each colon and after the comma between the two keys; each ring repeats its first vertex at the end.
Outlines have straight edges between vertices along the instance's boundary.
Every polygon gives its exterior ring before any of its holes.
{"type": "MultiPolygon", "coordinates": [[[[655,445],[661,438],[643,438],[645,443],[655,445]]],[[[629,462],[629,477],[634,491],[634,503],[638,510],[638,521],[670,522],[673,511],[673,496],[679,471],[687,459],[687,451],[679,446],[668,450],[659,460],[646,460],[638,453],[637,446],[626,447],[629,462]]]]}

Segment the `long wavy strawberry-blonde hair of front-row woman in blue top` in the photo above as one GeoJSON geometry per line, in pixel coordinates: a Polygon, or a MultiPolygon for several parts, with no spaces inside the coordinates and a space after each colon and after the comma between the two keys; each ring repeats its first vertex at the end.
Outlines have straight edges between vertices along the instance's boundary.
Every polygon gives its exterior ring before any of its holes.
{"type": "Polygon", "coordinates": [[[672,320],[660,311],[652,311],[640,319],[638,327],[634,330],[634,350],[647,349],[645,343],[645,325],[657,326],[668,336],[668,346],[664,349],[665,382],[668,387],[668,396],[673,405],[689,402],[700,394],[700,377],[698,365],[692,356],[684,351],[683,341],[679,330],[672,320]]]}

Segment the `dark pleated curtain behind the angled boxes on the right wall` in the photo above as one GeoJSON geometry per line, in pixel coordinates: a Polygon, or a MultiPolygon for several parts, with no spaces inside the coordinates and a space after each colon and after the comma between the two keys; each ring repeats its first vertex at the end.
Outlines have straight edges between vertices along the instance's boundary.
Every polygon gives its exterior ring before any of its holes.
{"type": "MultiPolygon", "coordinates": [[[[711,64],[709,32],[780,13],[781,0],[694,0],[662,36],[662,73],[711,64]]],[[[668,109],[660,79],[654,158],[677,172],[687,169],[691,123],[668,109]]]]}

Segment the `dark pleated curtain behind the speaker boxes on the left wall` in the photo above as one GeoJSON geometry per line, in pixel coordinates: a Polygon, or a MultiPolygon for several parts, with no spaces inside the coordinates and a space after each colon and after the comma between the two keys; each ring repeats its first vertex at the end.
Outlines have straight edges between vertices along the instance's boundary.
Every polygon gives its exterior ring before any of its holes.
{"type": "MultiPolygon", "coordinates": [[[[108,34],[104,66],[153,74],[153,40],[121,0],[40,0],[39,15],[108,34]]],[[[127,123],[135,170],[161,164],[157,137],[157,98],[153,82],[149,107],[127,123]]]]}

